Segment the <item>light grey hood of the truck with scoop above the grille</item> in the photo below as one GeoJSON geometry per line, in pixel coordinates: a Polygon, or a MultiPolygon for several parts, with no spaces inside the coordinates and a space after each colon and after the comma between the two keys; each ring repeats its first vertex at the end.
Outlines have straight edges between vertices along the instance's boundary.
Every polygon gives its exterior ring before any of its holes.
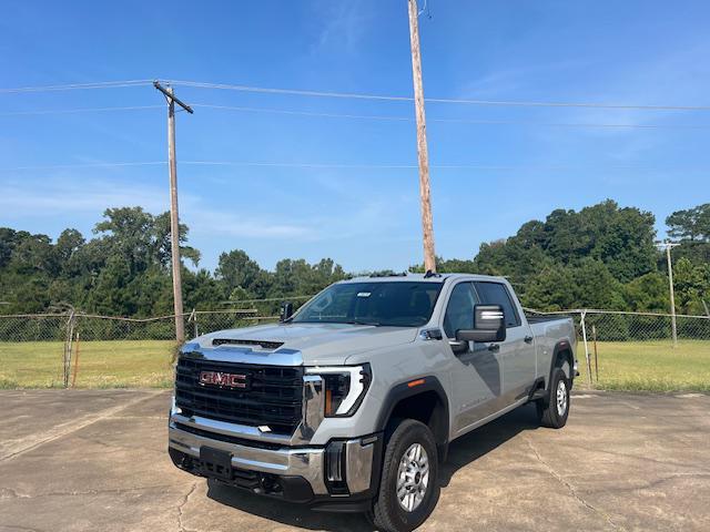
{"type": "Polygon", "coordinates": [[[268,364],[268,355],[265,351],[274,349],[275,346],[262,347],[257,342],[276,342],[283,344],[275,349],[276,351],[300,351],[306,366],[341,365],[353,355],[412,342],[417,330],[413,327],[349,324],[275,324],[210,332],[193,342],[199,344],[202,349],[221,349],[213,345],[213,340],[227,340],[233,347],[253,348],[260,355],[265,355],[264,364],[268,364]],[[239,344],[236,340],[245,341],[239,344]]]}

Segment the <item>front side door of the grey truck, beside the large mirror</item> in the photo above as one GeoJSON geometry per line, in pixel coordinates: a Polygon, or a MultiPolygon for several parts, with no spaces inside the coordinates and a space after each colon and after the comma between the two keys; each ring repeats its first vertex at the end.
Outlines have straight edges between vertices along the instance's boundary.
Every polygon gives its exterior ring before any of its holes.
{"type": "MultiPolygon", "coordinates": [[[[474,305],[480,303],[471,282],[454,285],[444,314],[444,335],[449,341],[456,340],[458,329],[470,329],[474,305]]],[[[452,405],[456,408],[454,430],[464,432],[501,407],[503,362],[500,352],[489,350],[486,344],[468,342],[468,348],[454,352],[446,347],[454,359],[452,405]]]]}

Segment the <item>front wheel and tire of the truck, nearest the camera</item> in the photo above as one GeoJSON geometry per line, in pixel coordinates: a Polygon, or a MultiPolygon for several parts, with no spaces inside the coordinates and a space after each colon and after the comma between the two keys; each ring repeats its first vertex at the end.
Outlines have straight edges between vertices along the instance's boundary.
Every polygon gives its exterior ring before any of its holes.
{"type": "Polygon", "coordinates": [[[439,492],[434,434],[419,421],[400,421],[385,448],[371,521],[385,532],[409,532],[429,516],[439,492]]]}

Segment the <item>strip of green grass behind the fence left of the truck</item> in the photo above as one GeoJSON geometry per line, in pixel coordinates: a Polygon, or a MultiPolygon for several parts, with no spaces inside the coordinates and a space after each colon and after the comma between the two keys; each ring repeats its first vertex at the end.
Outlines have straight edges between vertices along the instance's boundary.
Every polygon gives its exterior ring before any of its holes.
{"type": "MultiPolygon", "coordinates": [[[[82,341],[77,388],[170,387],[174,349],[170,340],[82,341]]],[[[0,388],[61,387],[62,356],[60,341],[0,342],[0,388]]]]}

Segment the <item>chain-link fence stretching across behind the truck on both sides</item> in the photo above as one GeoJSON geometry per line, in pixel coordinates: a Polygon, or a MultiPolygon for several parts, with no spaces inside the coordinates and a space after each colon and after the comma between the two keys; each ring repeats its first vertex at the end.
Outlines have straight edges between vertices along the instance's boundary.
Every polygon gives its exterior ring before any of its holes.
{"type": "MultiPolygon", "coordinates": [[[[307,297],[287,299],[298,306],[307,297]]],[[[186,313],[186,336],[276,321],[283,300],[186,313]]],[[[574,318],[580,380],[589,387],[710,391],[708,316],[528,311],[574,318]]],[[[170,387],[176,349],[174,316],[0,315],[0,388],[170,387]]]]}

